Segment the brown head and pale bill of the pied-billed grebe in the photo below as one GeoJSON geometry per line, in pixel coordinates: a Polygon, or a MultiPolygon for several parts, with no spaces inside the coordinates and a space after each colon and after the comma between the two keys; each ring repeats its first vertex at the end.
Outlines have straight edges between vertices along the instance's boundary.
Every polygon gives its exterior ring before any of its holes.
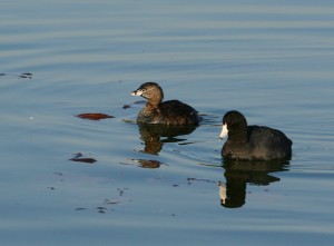
{"type": "Polygon", "coordinates": [[[131,92],[132,96],[141,96],[148,101],[161,102],[164,92],[161,87],[156,82],[145,82],[137,90],[131,92]]]}

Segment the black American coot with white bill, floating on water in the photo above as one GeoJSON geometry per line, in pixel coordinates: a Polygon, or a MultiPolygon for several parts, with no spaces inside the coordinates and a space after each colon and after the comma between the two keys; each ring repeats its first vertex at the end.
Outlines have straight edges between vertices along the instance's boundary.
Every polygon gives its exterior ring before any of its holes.
{"type": "Polygon", "coordinates": [[[228,134],[222,156],[235,160],[289,159],[292,140],[282,131],[263,126],[247,126],[238,111],[228,111],[223,118],[220,139],[228,134]]]}

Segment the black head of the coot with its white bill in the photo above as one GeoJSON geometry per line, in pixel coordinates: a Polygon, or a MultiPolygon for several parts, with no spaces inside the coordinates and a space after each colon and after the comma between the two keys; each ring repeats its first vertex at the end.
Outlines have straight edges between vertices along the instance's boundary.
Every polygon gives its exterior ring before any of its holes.
{"type": "Polygon", "coordinates": [[[239,111],[228,111],[223,117],[223,129],[219,138],[224,138],[229,134],[242,134],[247,129],[247,120],[239,111]]]}

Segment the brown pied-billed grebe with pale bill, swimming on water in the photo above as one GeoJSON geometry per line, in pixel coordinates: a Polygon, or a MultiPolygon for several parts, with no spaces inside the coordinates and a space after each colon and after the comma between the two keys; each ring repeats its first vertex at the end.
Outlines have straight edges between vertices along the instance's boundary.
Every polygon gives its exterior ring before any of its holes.
{"type": "Polygon", "coordinates": [[[177,126],[198,125],[200,121],[197,111],[190,106],[178,100],[163,101],[163,89],[156,82],[145,82],[131,95],[147,99],[146,106],[138,114],[138,122],[177,126]]]}

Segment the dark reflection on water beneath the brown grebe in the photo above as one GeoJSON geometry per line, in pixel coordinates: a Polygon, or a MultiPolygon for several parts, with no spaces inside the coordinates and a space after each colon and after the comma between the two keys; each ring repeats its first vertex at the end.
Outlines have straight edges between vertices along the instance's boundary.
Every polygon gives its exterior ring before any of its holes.
{"type": "Polygon", "coordinates": [[[165,126],[138,122],[140,139],[145,144],[143,152],[158,155],[165,142],[185,141],[185,138],[177,138],[191,134],[196,126],[165,126]]]}

